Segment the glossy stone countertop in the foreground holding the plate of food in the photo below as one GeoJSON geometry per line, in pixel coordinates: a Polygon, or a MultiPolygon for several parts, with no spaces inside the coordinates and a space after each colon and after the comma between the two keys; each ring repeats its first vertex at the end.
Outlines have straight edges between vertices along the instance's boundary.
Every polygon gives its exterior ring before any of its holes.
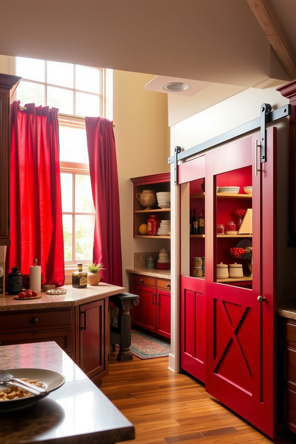
{"type": "Polygon", "coordinates": [[[4,369],[63,373],[66,382],[29,408],[0,413],[1,444],[111,444],[134,439],[134,426],[55,342],[0,346],[4,369]]]}

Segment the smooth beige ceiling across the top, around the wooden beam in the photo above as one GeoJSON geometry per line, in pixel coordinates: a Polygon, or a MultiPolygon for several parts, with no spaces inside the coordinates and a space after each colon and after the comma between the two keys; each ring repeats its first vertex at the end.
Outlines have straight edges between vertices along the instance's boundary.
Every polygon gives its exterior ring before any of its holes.
{"type": "MultiPolygon", "coordinates": [[[[250,2],[2,0],[0,54],[239,87],[290,80],[250,2]]],[[[296,53],[296,1],[268,6],[296,53]]]]}

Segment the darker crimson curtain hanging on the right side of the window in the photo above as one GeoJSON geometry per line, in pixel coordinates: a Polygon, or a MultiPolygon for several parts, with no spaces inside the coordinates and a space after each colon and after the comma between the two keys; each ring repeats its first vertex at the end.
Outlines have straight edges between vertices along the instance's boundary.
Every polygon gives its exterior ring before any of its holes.
{"type": "Polygon", "coordinates": [[[91,189],[95,204],[93,262],[103,263],[102,281],[122,286],[118,174],[113,123],[86,117],[91,189]]]}

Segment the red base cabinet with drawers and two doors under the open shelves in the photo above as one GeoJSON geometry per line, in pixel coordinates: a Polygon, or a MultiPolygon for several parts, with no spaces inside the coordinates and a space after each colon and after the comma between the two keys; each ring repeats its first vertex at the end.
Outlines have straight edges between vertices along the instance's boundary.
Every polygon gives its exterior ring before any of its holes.
{"type": "Polygon", "coordinates": [[[170,338],[170,280],[130,274],[130,293],[139,296],[131,310],[132,325],[170,338]]]}

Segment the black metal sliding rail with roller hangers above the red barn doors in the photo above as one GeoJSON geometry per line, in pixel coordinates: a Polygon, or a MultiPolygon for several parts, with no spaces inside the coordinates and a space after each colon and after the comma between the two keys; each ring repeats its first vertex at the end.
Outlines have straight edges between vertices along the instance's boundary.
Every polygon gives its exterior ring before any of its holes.
{"type": "Polygon", "coordinates": [[[275,122],[276,120],[282,119],[288,115],[292,114],[292,105],[288,103],[283,107],[280,107],[274,111],[271,111],[271,105],[269,103],[263,103],[260,106],[260,117],[251,120],[250,122],[244,123],[240,127],[234,128],[233,130],[227,131],[226,133],[220,134],[213,139],[209,139],[206,142],[202,142],[195,147],[189,148],[188,150],[181,150],[181,147],[176,146],[174,148],[174,155],[169,157],[168,163],[174,163],[174,184],[178,185],[178,161],[185,160],[193,155],[204,154],[205,151],[210,150],[213,147],[217,147],[221,143],[229,142],[236,137],[245,135],[251,131],[256,131],[260,128],[260,146],[261,146],[261,163],[266,162],[266,125],[268,123],[275,122]]]}

